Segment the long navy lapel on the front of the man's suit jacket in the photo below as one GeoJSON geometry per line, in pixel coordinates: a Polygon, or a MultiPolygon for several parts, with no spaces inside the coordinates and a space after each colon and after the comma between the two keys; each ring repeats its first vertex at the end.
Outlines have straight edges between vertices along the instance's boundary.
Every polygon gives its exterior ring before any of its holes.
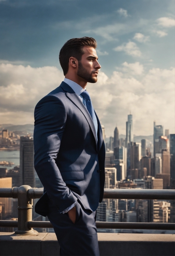
{"type": "Polygon", "coordinates": [[[97,145],[97,137],[96,137],[94,122],[93,122],[87,108],[81,102],[81,100],[78,98],[77,94],[74,92],[74,90],[72,90],[72,88],[68,84],[66,84],[65,82],[62,82],[60,86],[63,88],[63,90],[66,91],[66,96],[77,106],[77,108],[79,108],[81,110],[81,112],[85,116],[85,118],[88,121],[89,126],[93,132],[94,139],[95,139],[96,145],[97,145]]]}

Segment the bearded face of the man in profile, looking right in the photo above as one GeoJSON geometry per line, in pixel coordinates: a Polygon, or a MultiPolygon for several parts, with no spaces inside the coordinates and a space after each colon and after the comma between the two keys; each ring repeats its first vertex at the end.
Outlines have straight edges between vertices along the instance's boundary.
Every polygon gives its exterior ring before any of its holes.
{"type": "Polygon", "coordinates": [[[98,69],[101,68],[98,63],[98,56],[93,47],[84,46],[84,54],[81,61],[78,62],[77,75],[85,80],[85,82],[96,83],[98,69]]]}

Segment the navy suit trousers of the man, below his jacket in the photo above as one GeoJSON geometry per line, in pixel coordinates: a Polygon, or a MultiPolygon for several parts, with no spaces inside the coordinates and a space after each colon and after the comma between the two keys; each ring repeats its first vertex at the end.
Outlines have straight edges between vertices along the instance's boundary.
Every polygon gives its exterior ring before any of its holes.
{"type": "Polygon", "coordinates": [[[57,207],[50,201],[47,215],[54,227],[60,245],[60,255],[100,255],[96,228],[96,211],[85,210],[77,201],[75,224],[68,213],[59,213],[57,207]]]}

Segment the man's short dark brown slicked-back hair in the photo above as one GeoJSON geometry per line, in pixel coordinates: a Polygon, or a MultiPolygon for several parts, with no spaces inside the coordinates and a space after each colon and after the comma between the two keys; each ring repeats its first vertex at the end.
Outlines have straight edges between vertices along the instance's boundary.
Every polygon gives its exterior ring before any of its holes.
{"type": "Polygon", "coordinates": [[[92,37],[72,38],[68,40],[59,52],[59,63],[63,69],[64,75],[68,73],[69,58],[74,57],[78,61],[81,60],[81,56],[84,54],[83,47],[97,47],[97,42],[92,37]]]}

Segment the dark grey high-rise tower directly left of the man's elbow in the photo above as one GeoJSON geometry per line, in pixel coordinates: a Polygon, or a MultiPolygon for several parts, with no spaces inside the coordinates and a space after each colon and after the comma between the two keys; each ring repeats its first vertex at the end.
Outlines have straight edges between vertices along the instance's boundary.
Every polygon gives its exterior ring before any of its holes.
{"type": "Polygon", "coordinates": [[[33,139],[20,137],[20,185],[35,186],[33,139]]]}

